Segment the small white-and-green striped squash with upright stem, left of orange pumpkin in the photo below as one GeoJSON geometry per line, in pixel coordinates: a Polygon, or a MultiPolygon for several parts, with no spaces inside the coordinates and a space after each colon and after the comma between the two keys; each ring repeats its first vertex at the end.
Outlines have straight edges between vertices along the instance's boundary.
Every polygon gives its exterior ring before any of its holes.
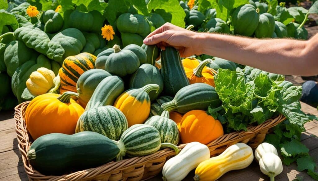
{"type": "Polygon", "coordinates": [[[169,112],[163,111],[160,116],[152,116],[146,122],[145,125],[154,126],[160,133],[161,142],[178,144],[179,142],[179,130],[177,124],[169,119],[169,112]]]}

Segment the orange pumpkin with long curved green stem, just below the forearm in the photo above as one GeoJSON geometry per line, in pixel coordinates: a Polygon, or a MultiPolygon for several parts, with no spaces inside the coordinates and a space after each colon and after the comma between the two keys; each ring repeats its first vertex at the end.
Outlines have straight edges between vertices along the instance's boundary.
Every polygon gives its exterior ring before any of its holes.
{"type": "Polygon", "coordinates": [[[200,63],[197,59],[192,57],[182,60],[183,68],[190,84],[205,83],[215,87],[214,74],[216,74],[216,71],[206,67],[211,61],[211,59],[206,59],[200,63]]]}

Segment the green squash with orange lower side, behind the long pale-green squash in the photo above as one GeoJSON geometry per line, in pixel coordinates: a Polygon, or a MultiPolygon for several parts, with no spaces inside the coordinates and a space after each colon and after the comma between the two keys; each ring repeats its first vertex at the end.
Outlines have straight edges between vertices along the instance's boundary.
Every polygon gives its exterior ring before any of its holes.
{"type": "Polygon", "coordinates": [[[108,76],[112,75],[105,70],[95,68],[87,70],[80,75],[76,83],[76,90],[79,94],[79,104],[82,107],[86,107],[87,102],[91,99],[98,84],[108,76]]]}

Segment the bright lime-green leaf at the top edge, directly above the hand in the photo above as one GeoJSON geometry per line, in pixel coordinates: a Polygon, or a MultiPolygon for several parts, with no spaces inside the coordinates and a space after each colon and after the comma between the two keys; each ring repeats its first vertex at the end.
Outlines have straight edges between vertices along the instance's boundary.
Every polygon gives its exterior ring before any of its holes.
{"type": "Polygon", "coordinates": [[[185,12],[177,0],[150,0],[148,10],[155,10],[155,12],[162,16],[162,18],[176,26],[185,27],[185,12]],[[171,19],[170,19],[171,17],[171,19]]]}

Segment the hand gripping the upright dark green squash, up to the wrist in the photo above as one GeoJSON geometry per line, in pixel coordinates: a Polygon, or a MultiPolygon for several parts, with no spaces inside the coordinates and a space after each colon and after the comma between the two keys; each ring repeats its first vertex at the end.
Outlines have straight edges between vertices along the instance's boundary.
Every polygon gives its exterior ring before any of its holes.
{"type": "Polygon", "coordinates": [[[157,44],[162,50],[165,50],[167,46],[172,46],[179,50],[181,57],[202,54],[202,48],[199,48],[199,33],[171,23],[165,23],[150,33],[143,40],[143,43],[147,45],[157,44]]]}

